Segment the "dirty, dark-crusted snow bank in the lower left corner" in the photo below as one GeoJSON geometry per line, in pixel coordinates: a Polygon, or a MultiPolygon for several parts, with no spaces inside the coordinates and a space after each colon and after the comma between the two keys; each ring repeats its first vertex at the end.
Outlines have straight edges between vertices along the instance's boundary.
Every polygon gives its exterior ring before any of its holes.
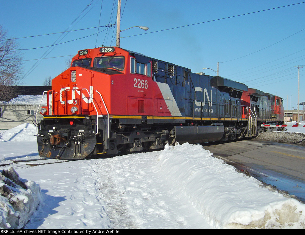
{"type": "Polygon", "coordinates": [[[0,227],[20,229],[41,201],[40,187],[21,179],[13,167],[0,172],[0,227]]]}

